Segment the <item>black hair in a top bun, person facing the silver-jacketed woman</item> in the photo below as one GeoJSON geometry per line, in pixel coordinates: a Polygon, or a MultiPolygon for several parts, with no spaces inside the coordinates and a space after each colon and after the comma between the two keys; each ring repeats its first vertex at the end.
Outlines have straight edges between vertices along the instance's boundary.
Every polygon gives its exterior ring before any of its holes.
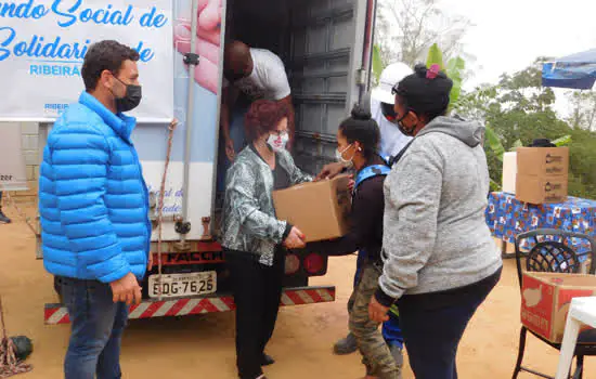
{"type": "Polygon", "coordinates": [[[348,143],[358,141],[366,159],[378,154],[380,131],[377,121],[372,118],[371,112],[361,105],[354,105],[351,116],[339,125],[339,132],[348,140],[348,143]]]}

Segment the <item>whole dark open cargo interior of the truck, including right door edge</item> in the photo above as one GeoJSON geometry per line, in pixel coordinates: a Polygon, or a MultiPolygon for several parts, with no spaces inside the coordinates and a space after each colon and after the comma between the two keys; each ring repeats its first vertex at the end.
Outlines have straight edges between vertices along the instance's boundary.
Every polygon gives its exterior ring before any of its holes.
{"type": "Polygon", "coordinates": [[[375,9],[375,0],[228,0],[226,38],[285,64],[293,154],[309,173],[335,159],[337,127],[368,88],[375,9]]]}

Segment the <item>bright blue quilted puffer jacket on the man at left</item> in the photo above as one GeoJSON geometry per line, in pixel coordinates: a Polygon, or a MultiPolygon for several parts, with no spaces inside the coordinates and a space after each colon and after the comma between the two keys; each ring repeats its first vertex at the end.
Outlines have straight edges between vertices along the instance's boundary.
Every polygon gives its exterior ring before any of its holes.
{"type": "Polygon", "coordinates": [[[87,92],[55,122],[39,178],[43,263],[51,274],[103,283],[145,275],[152,227],[130,141],[134,125],[87,92]]]}

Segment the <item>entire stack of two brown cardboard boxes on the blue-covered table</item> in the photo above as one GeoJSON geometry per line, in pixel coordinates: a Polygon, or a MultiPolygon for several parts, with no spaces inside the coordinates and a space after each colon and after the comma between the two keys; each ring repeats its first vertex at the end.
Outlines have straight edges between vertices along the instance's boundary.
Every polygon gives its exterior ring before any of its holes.
{"type": "Polygon", "coordinates": [[[516,198],[530,204],[565,202],[569,177],[568,147],[518,147],[516,198]]]}

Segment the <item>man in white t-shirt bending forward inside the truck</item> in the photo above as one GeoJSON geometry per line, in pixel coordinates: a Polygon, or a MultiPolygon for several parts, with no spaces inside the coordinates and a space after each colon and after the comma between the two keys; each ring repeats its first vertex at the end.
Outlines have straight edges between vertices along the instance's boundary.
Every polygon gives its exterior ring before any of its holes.
{"type": "MultiPolygon", "coordinates": [[[[244,116],[256,100],[272,100],[289,109],[287,149],[294,143],[294,105],[284,63],[269,50],[255,49],[241,41],[225,44],[223,60],[223,91],[221,95],[221,140],[225,154],[220,154],[219,167],[229,167],[246,145],[244,116]]],[[[222,170],[225,172],[225,170],[222,170]]],[[[219,190],[223,190],[223,177],[219,190]]]]}

